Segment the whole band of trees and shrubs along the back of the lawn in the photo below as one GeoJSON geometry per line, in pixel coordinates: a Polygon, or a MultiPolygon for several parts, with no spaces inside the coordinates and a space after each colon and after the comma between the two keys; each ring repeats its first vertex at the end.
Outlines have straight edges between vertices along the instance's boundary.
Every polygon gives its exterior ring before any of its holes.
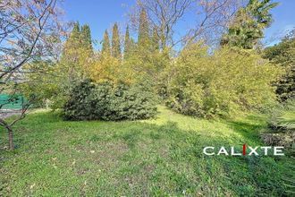
{"type": "MultiPolygon", "coordinates": [[[[227,117],[251,110],[265,112],[278,101],[293,99],[294,34],[274,47],[261,46],[263,32],[273,21],[270,10],[277,3],[251,0],[248,4],[235,4],[238,8],[227,21],[217,45],[210,45],[205,36],[198,37],[199,31],[189,36],[190,31],[186,39],[181,39],[181,49],[175,49],[173,25],[181,15],[173,18],[170,13],[162,16],[162,22],[156,21],[158,16],[147,9],[153,1],[140,2],[124,33],[117,23],[112,34],[105,30],[99,51],[92,46],[89,26],[74,23],[59,61],[49,66],[53,74],[44,79],[54,82],[24,87],[25,92],[38,92],[40,105],[63,108],[69,119],[83,119],[78,114],[84,108],[87,113],[94,113],[85,119],[146,118],[156,114],[156,107],[151,107],[155,103],[164,103],[190,116],[227,117]],[[174,23],[164,20],[169,17],[174,23]],[[91,90],[82,88],[87,81],[93,86],[91,90]],[[138,84],[147,88],[140,89],[138,84]],[[113,108],[105,107],[105,112],[96,114],[99,102],[105,102],[100,99],[102,95],[92,92],[99,89],[104,89],[104,97],[112,98],[115,104],[106,102],[113,108]],[[82,107],[85,103],[90,105],[82,107]],[[122,111],[139,106],[136,110],[140,110],[140,115],[119,116],[122,111]],[[108,110],[114,112],[113,117],[102,115],[108,110]]],[[[185,13],[189,7],[181,3],[176,13],[185,13]]],[[[163,4],[164,8],[167,13],[172,12],[171,5],[163,4]]],[[[30,75],[29,80],[34,77],[38,75],[30,75]]]]}

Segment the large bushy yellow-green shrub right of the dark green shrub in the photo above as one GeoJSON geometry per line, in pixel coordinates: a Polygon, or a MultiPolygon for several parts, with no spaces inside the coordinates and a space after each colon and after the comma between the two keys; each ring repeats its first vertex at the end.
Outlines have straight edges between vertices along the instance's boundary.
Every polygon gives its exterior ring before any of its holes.
{"type": "Polygon", "coordinates": [[[209,55],[198,43],[184,48],[166,74],[171,79],[166,83],[169,107],[213,117],[274,103],[271,83],[281,70],[251,51],[223,47],[209,55]]]}

